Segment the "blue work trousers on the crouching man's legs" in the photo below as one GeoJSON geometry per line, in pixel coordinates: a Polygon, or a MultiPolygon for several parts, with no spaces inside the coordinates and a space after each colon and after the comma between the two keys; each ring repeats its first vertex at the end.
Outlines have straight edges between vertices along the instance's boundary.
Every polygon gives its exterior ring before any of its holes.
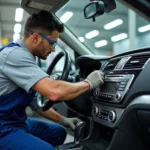
{"type": "Polygon", "coordinates": [[[14,129],[0,137],[0,150],[54,150],[63,144],[66,130],[57,124],[27,119],[27,130],[14,129]]]}

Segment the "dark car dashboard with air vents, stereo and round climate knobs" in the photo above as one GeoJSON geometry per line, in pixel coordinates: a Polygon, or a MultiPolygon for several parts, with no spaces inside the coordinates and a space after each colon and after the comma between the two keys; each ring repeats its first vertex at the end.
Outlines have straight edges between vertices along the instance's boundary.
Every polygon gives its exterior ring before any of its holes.
{"type": "MultiPolygon", "coordinates": [[[[81,56],[77,60],[81,78],[102,70],[104,84],[91,91],[92,119],[115,128],[130,108],[150,104],[150,48],[126,52],[115,57],[81,56]],[[89,69],[90,68],[90,69],[89,69]]],[[[149,105],[150,106],[150,105],[149,105]]],[[[146,109],[144,108],[144,109],[146,109]]]]}

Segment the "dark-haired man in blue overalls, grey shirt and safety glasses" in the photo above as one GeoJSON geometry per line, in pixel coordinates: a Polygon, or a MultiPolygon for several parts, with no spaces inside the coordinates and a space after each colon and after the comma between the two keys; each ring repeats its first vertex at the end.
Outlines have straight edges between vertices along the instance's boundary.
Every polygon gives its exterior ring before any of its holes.
{"type": "MultiPolygon", "coordinates": [[[[69,83],[50,79],[35,62],[55,51],[64,27],[52,14],[40,11],[27,19],[22,41],[0,49],[0,150],[53,150],[66,137],[57,124],[28,119],[25,113],[39,92],[44,97],[70,100],[103,83],[103,73],[92,72],[84,81],[69,83]]],[[[36,111],[65,127],[74,129],[74,118],[65,118],[50,108],[36,111]]]]}

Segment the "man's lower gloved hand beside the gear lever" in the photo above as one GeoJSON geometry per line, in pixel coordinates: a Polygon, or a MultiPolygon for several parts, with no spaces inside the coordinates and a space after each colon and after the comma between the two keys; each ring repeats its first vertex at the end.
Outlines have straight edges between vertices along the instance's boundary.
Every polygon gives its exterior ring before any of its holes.
{"type": "Polygon", "coordinates": [[[76,117],[75,118],[66,118],[63,116],[59,123],[66,128],[70,128],[71,130],[74,130],[78,121],[80,121],[80,119],[78,119],[76,117]]]}

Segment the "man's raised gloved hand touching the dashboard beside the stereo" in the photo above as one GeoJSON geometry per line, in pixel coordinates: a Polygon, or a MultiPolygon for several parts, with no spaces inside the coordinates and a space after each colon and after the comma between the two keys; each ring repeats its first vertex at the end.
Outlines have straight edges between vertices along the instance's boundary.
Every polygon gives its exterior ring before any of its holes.
{"type": "Polygon", "coordinates": [[[91,90],[99,85],[102,85],[104,83],[103,80],[104,80],[103,72],[100,70],[95,70],[92,73],[90,73],[84,81],[89,83],[91,90]]]}

